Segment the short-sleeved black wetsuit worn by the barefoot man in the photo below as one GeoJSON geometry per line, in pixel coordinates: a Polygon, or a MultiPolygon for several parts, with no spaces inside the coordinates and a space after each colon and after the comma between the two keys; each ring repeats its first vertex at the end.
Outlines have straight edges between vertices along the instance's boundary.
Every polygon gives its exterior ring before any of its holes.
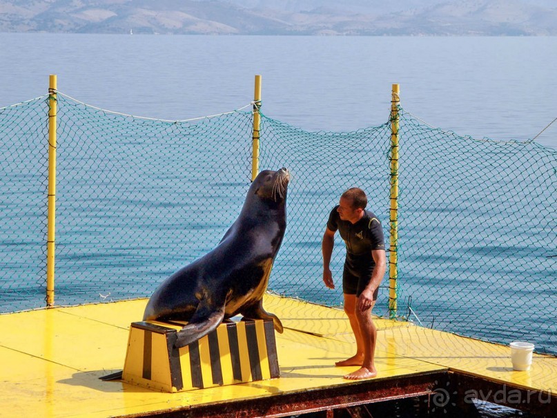
{"type": "MultiPolygon", "coordinates": [[[[346,260],[342,273],[342,292],[360,296],[371,279],[375,261],[371,256],[374,249],[385,249],[381,222],[370,211],[364,210],[364,216],[355,224],[349,220],[340,219],[335,206],[329,215],[327,228],[339,231],[346,244],[346,260]]],[[[379,289],[379,288],[378,288],[379,289]]],[[[375,289],[373,299],[377,299],[378,289],[375,289]]]]}

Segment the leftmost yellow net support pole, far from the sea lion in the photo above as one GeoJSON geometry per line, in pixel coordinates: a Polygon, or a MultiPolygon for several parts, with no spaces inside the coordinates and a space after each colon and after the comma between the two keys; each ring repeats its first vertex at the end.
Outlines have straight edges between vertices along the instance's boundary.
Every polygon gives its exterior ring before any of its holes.
{"type": "Polygon", "coordinates": [[[46,306],[54,305],[56,219],[56,113],[57,77],[50,75],[48,87],[48,229],[46,238],[46,306]]]}

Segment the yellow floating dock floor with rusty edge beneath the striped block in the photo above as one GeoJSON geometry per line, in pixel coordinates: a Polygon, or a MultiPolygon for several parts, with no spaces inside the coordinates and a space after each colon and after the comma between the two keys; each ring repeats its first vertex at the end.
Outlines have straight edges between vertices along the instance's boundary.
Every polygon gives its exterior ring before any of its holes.
{"type": "Polygon", "coordinates": [[[355,368],[334,366],[355,347],[344,312],[271,295],[264,306],[285,327],[278,379],[178,393],[99,380],[123,368],[146,302],[1,315],[0,417],[278,417],[445,392],[443,406],[475,397],[557,416],[557,357],[516,372],[506,346],[377,318],[378,377],[346,381],[355,368]]]}

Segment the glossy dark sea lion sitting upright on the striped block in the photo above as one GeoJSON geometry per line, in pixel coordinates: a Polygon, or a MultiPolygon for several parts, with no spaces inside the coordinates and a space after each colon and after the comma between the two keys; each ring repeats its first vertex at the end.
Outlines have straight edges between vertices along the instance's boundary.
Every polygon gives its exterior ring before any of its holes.
{"type": "Polygon", "coordinates": [[[188,321],[177,333],[176,347],[197,341],[237,314],[273,320],[282,333],[280,319],[263,309],[262,299],[286,229],[289,180],[285,168],[257,175],[219,245],[159,285],[144,321],[188,321]]]}

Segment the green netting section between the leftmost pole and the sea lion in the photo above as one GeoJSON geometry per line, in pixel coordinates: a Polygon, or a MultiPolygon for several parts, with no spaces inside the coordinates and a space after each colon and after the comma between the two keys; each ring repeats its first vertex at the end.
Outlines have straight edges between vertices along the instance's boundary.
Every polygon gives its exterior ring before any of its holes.
{"type": "Polygon", "coordinates": [[[150,296],[237,217],[251,113],[173,123],[61,96],[58,117],[57,304],[150,296]]]}

